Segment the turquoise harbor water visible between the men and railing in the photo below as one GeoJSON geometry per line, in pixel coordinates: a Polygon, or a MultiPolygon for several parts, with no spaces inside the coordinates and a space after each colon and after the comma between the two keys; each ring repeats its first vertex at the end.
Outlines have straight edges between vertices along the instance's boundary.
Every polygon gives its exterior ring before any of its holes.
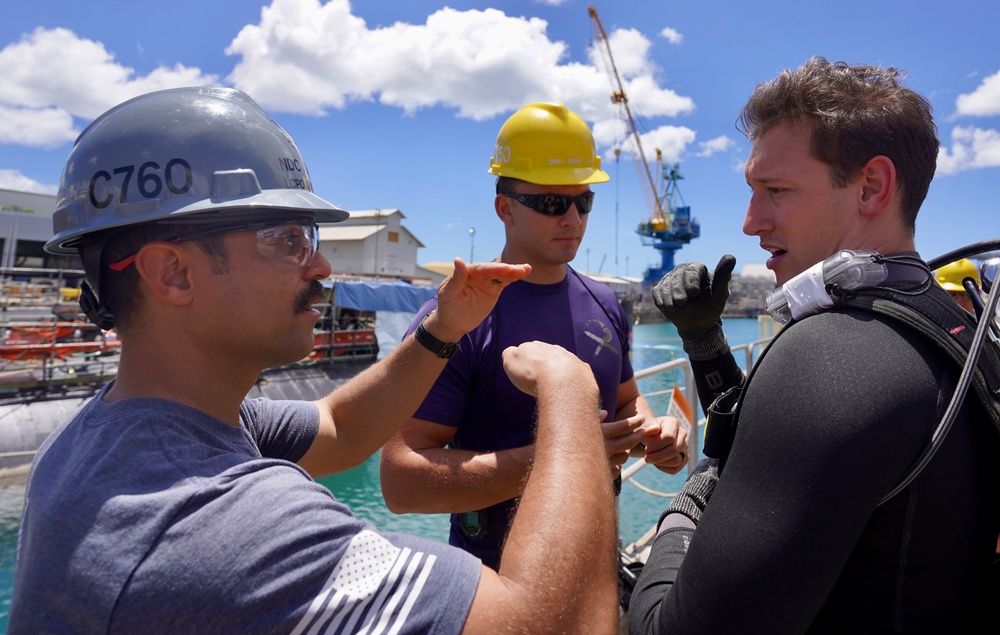
{"type": "MultiPolygon", "coordinates": [[[[753,319],[726,319],[724,328],[733,344],[758,339],[757,321],[753,319]]],[[[680,339],[672,325],[650,323],[634,328],[632,365],[636,369],[649,368],[683,355],[680,339]]],[[[683,382],[680,371],[676,374],[667,372],[640,380],[639,388],[644,394],[662,393],[650,398],[653,412],[660,415],[667,409],[668,391],[674,383],[679,382],[683,382]]],[[[695,404],[692,405],[697,408],[695,404]]],[[[623,485],[619,498],[620,537],[623,544],[636,540],[656,522],[669,502],[661,495],[676,492],[684,478],[684,474],[671,476],[648,468],[639,472],[634,479],[635,484],[623,485]],[[650,491],[654,493],[649,493],[650,491]]],[[[320,479],[320,482],[358,517],[370,520],[382,530],[417,534],[442,542],[448,540],[446,515],[396,515],[386,508],[380,490],[377,455],[354,469],[320,479]]],[[[0,487],[0,632],[7,630],[17,530],[23,504],[23,483],[0,487]]]]}

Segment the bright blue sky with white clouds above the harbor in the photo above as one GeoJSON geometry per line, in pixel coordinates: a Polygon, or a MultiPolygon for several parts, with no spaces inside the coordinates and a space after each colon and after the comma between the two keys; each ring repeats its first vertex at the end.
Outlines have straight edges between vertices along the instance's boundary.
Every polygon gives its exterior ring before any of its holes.
{"type": "MultiPolygon", "coordinates": [[[[1000,237],[1000,2],[595,6],[643,145],[680,163],[701,223],[678,262],[766,259],[740,229],[749,145],[735,121],[757,83],[813,55],[906,69],[933,104],[943,151],[917,221],[926,258],[1000,237]]],[[[503,244],[486,173],[496,133],[525,103],[562,101],[594,127],[612,177],[573,264],[640,276],[659,263],[635,233],[650,206],[635,162],[614,159],[624,127],[593,45],[584,0],[0,0],[0,188],[54,193],[73,139],[120,101],[224,84],[291,134],[318,194],[401,209],[420,263],[482,261],[503,244]]]]}

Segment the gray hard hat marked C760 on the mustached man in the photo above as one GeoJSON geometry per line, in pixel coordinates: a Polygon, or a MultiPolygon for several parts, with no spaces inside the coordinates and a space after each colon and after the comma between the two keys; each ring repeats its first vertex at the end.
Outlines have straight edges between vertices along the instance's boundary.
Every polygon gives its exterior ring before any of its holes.
{"type": "Polygon", "coordinates": [[[115,106],[77,138],[45,250],[77,253],[91,235],[127,225],[247,212],[348,216],[313,193],[295,142],[246,93],[161,90],[115,106]]]}

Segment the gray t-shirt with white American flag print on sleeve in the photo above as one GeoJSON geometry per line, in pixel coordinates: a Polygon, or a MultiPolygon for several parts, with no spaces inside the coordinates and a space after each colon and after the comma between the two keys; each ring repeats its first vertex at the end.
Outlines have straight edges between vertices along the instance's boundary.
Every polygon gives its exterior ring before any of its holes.
{"type": "Polygon", "coordinates": [[[240,427],[162,399],[90,401],[28,478],[15,633],[457,633],[478,560],[380,533],[292,461],[309,402],[240,427]]]}

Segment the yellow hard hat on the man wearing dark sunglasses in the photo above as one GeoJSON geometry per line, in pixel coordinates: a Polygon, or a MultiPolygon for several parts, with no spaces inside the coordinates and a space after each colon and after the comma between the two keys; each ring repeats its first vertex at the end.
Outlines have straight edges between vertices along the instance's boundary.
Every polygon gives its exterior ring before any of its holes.
{"type": "Polygon", "coordinates": [[[601,171],[594,135],[562,104],[521,107],[500,128],[490,174],[539,185],[584,185],[609,180],[601,171]]]}

